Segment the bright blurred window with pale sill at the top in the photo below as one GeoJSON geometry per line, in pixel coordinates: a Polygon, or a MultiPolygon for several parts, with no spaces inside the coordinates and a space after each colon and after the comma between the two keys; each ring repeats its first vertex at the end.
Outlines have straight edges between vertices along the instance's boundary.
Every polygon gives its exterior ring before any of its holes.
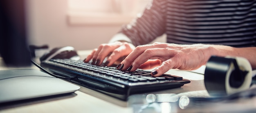
{"type": "Polygon", "coordinates": [[[150,0],[68,0],[68,22],[82,24],[126,24],[143,11],[150,0]]]}

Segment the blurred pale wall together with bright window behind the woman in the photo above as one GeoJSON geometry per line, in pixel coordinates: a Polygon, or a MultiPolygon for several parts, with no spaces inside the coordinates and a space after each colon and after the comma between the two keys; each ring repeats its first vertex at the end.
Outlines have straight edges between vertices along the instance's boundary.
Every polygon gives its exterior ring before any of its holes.
{"type": "MultiPolygon", "coordinates": [[[[94,49],[108,43],[151,0],[27,0],[29,43],[94,49]]],[[[165,36],[154,42],[165,42],[165,36]]]]}

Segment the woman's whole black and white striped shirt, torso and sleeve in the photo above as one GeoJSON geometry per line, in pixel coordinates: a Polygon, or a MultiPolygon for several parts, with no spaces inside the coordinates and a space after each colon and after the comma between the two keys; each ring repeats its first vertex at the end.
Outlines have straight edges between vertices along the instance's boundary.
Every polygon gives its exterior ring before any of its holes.
{"type": "Polygon", "coordinates": [[[137,46],[168,43],[256,47],[256,0],[153,0],[121,31],[137,46]]]}

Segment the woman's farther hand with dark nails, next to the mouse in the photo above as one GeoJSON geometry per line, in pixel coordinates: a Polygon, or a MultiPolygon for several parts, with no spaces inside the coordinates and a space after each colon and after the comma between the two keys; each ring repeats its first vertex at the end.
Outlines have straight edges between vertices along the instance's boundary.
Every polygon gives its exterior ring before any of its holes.
{"type": "Polygon", "coordinates": [[[120,63],[134,49],[135,46],[128,42],[117,41],[109,44],[101,44],[97,49],[94,49],[87,58],[85,58],[84,62],[87,63],[92,60],[93,65],[99,66],[103,63],[103,60],[107,58],[103,65],[111,66],[118,60],[120,61],[116,63],[120,63]]]}

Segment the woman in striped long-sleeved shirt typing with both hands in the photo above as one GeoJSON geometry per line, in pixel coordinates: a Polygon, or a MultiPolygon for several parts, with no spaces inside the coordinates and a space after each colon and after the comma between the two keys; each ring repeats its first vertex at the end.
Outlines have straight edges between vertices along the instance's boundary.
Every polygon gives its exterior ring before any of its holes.
{"type": "Polygon", "coordinates": [[[126,57],[117,69],[155,68],[157,77],[198,69],[212,55],[244,57],[256,69],[256,0],[153,0],[84,62],[111,66],[126,57]],[[167,43],[148,44],[164,33],[167,43]]]}

